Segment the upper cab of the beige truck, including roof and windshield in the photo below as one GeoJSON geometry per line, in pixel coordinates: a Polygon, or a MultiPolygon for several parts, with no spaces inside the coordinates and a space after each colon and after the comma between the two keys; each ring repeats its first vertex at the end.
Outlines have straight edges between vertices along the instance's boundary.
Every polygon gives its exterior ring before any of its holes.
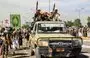
{"type": "Polygon", "coordinates": [[[40,32],[66,32],[64,22],[39,21],[34,24],[32,33],[40,32]]]}

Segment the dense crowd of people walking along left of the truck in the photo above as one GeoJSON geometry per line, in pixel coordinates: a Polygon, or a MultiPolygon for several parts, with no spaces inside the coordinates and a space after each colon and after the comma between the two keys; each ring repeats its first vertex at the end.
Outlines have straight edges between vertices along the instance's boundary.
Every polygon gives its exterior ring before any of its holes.
{"type": "MultiPolygon", "coordinates": [[[[19,49],[23,45],[23,39],[29,43],[30,29],[29,28],[1,28],[0,30],[0,54],[19,49]],[[1,51],[2,50],[2,51],[1,51]]],[[[29,47],[29,45],[28,45],[29,47]]]]}

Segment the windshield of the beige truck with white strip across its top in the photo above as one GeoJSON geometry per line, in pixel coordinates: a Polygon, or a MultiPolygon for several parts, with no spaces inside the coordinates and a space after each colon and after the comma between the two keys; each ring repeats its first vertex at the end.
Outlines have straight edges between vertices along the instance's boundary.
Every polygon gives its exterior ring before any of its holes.
{"type": "Polygon", "coordinates": [[[60,33],[63,31],[64,24],[59,23],[39,23],[39,33],[60,33]]]}

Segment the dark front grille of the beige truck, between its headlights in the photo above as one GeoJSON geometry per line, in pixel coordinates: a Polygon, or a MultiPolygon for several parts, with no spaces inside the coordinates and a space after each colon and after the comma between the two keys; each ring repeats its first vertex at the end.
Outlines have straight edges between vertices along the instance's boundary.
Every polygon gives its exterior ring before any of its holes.
{"type": "Polygon", "coordinates": [[[51,48],[71,48],[72,42],[70,40],[54,40],[49,41],[49,47],[51,48]]]}

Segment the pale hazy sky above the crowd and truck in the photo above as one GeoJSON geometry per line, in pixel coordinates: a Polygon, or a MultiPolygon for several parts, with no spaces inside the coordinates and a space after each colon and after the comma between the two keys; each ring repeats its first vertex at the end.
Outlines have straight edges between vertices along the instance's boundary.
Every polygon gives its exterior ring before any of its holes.
{"type": "MultiPolygon", "coordinates": [[[[37,0],[0,0],[0,21],[9,19],[10,14],[20,14],[22,24],[25,21],[31,21],[35,12],[37,0]]],[[[53,4],[61,13],[62,20],[72,20],[79,17],[81,12],[81,22],[87,23],[87,17],[90,15],[90,0],[50,0],[51,11],[53,4]]],[[[49,0],[38,0],[39,9],[49,11],[49,0]]]]}

